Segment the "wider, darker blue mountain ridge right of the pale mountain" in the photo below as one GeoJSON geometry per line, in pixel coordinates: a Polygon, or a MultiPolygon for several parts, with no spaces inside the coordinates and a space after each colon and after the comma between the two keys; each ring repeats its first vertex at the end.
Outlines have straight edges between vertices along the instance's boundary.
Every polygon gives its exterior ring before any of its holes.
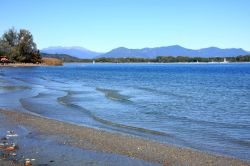
{"type": "Polygon", "coordinates": [[[247,55],[249,52],[241,48],[220,49],[209,47],[203,49],[187,49],[178,45],[156,48],[128,49],[119,47],[98,57],[122,58],[122,57],[142,57],[155,58],[157,56],[189,56],[189,57],[232,57],[247,55]]]}

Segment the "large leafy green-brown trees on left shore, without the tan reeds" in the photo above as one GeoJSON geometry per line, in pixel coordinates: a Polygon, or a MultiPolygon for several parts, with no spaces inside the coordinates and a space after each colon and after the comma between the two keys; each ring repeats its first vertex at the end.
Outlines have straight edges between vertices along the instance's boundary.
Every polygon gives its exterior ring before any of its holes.
{"type": "Polygon", "coordinates": [[[9,29],[0,38],[0,55],[7,56],[11,62],[37,63],[41,56],[32,34],[25,29],[17,32],[9,29]]]}

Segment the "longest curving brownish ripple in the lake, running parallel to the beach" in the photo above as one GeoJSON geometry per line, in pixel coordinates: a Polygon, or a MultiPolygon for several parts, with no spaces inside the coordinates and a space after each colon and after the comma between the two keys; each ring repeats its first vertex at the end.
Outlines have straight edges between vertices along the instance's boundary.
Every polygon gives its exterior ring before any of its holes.
{"type": "Polygon", "coordinates": [[[118,127],[118,128],[123,128],[123,129],[128,129],[128,130],[133,130],[133,131],[137,131],[137,132],[143,132],[143,133],[149,133],[149,134],[154,134],[154,135],[173,137],[172,135],[166,134],[164,132],[145,129],[145,128],[140,128],[140,127],[128,126],[128,125],[114,123],[112,121],[102,119],[102,118],[96,116],[93,112],[91,112],[91,111],[89,111],[89,110],[87,110],[87,109],[85,109],[85,108],[83,108],[81,106],[78,106],[76,104],[70,103],[68,101],[69,96],[71,96],[71,94],[67,93],[67,95],[65,95],[63,97],[59,97],[58,102],[65,105],[65,106],[67,106],[67,107],[69,107],[69,108],[71,108],[71,109],[76,109],[76,110],[83,111],[86,115],[88,115],[89,117],[91,117],[95,121],[100,122],[102,124],[105,124],[105,125],[108,125],[108,126],[113,126],[113,127],[118,127]]]}

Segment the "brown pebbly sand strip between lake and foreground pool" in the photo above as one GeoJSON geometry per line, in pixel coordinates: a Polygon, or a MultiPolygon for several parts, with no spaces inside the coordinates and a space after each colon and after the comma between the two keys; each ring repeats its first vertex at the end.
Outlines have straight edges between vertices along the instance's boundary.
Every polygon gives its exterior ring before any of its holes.
{"type": "Polygon", "coordinates": [[[109,133],[27,113],[0,110],[0,114],[13,124],[28,126],[48,138],[53,135],[59,136],[61,139],[58,141],[70,147],[120,154],[163,165],[250,165],[247,161],[230,157],[109,133]]]}

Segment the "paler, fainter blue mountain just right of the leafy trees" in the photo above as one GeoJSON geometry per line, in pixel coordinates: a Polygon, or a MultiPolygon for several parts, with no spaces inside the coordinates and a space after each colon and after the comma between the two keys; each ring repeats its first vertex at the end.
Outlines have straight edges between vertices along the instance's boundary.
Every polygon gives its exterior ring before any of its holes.
{"type": "Polygon", "coordinates": [[[42,53],[46,54],[67,54],[81,59],[91,59],[102,53],[87,50],[82,47],[48,47],[41,50],[42,53]]]}

